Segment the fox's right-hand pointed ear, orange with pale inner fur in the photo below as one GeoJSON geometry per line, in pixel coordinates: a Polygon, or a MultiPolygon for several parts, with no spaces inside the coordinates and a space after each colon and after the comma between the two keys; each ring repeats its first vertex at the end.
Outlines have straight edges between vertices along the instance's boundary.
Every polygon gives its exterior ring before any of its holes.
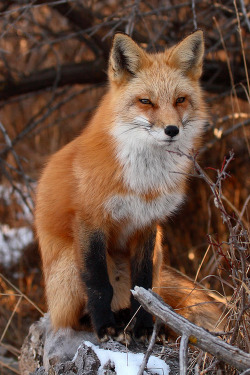
{"type": "Polygon", "coordinates": [[[203,55],[203,32],[198,30],[171,49],[168,64],[182,70],[191,78],[199,79],[202,73],[203,55]]]}

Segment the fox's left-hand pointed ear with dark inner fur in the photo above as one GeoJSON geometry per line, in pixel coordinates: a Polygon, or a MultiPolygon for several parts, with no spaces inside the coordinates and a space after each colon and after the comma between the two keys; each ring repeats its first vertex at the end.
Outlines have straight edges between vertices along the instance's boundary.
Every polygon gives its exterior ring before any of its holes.
{"type": "Polygon", "coordinates": [[[146,53],[130,36],[117,33],[109,57],[109,79],[121,82],[135,75],[147,59],[146,53]]]}

